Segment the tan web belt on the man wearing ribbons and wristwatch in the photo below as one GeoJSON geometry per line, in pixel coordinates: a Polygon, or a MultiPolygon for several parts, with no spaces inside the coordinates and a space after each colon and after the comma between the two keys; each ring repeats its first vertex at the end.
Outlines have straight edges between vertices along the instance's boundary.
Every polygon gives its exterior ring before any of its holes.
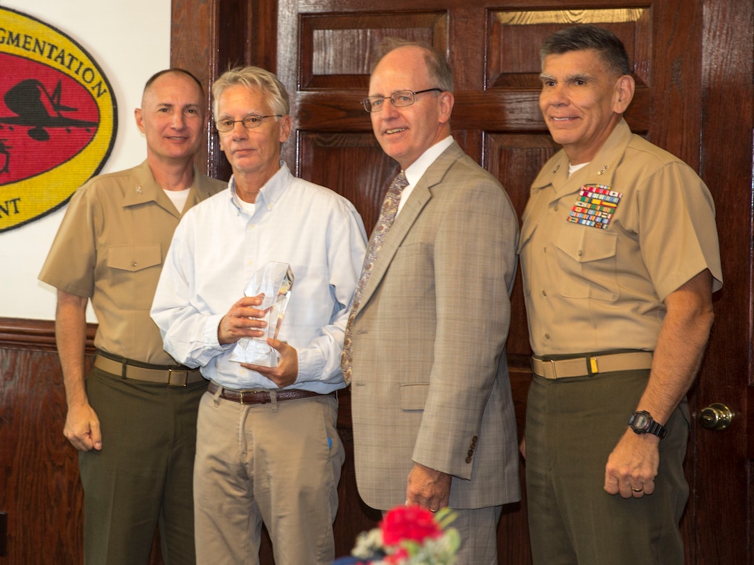
{"type": "Polygon", "coordinates": [[[609,353],[607,355],[552,359],[532,357],[532,372],[546,379],[587,377],[612,371],[639,371],[652,366],[651,351],[609,353]]]}

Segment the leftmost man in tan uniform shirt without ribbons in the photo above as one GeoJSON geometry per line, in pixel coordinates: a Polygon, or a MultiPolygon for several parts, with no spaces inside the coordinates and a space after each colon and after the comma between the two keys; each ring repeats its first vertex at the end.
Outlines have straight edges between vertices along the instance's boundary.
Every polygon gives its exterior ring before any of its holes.
{"type": "Polygon", "coordinates": [[[146,161],[76,191],[39,275],[58,289],[63,432],[80,450],[91,565],[147,563],[158,523],[165,562],[195,563],[192,469],[207,383],[165,353],[149,307],[182,212],[225,188],[194,165],[205,106],[189,72],[149,79],[135,111],[146,161]],[[99,327],[84,381],[89,298],[99,327]]]}

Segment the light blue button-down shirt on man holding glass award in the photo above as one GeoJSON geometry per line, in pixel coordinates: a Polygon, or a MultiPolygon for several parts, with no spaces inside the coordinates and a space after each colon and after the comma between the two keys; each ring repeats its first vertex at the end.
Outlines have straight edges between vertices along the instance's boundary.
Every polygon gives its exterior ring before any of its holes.
{"type": "Polygon", "coordinates": [[[280,170],[241,208],[231,178],[228,190],[190,209],[167,253],[152,304],[165,350],[176,361],[201,367],[207,379],[233,389],[277,389],[256,371],[230,361],[217,328],[257,270],[288,263],[295,280],[278,338],[299,356],[290,389],[343,388],[340,358],[348,310],[366,252],[359,213],[344,197],[280,170]]]}

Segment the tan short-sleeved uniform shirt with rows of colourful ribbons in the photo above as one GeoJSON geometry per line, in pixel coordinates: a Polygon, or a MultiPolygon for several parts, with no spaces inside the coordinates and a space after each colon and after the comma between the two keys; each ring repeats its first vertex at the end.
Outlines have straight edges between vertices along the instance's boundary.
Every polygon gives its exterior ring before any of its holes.
{"type": "Polygon", "coordinates": [[[568,176],[559,151],[532,184],[519,253],[539,356],[654,350],[664,299],[705,269],[722,286],[712,195],[621,120],[568,176]]]}

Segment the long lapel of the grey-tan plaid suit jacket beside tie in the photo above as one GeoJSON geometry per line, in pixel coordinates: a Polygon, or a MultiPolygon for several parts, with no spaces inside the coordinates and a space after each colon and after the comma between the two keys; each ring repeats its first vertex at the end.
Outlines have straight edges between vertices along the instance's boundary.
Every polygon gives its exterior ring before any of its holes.
{"type": "Polygon", "coordinates": [[[395,219],[390,233],[382,243],[382,249],[380,249],[375,264],[372,266],[372,274],[369,275],[369,282],[366,283],[366,287],[364,288],[360,310],[363,310],[369,299],[372,298],[375,290],[380,282],[382,282],[382,277],[385,276],[391,261],[393,261],[395,253],[400,248],[400,244],[403,243],[406,235],[411,231],[416,218],[421,214],[421,210],[431,200],[431,188],[443,180],[445,173],[447,173],[452,163],[455,163],[462,155],[464,155],[464,151],[461,149],[461,146],[453,142],[452,145],[440,154],[440,157],[437,157],[434,163],[425,171],[425,174],[421,176],[419,182],[416,183],[416,186],[409,195],[409,199],[406,200],[406,203],[400,210],[400,214],[395,219]]]}

